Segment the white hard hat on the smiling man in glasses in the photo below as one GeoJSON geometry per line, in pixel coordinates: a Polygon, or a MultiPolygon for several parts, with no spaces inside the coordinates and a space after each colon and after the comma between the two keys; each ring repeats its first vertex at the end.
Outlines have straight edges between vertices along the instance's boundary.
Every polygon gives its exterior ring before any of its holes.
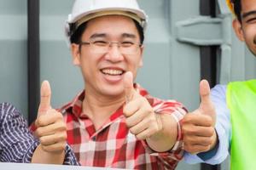
{"type": "Polygon", "coordinates": [[[148,16],[139,8],[137,0],[76,0],[73,4],[72,14],[68,14],[65,34],[68,38],[84,22],[93,18],[120,14],[137,20],[145,30],[148,16]]]}

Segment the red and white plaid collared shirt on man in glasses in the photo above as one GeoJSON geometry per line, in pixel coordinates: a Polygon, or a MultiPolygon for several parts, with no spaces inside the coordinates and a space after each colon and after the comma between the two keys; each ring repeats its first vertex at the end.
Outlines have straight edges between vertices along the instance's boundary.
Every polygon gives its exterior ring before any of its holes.
{"type": "Polygon", "coordinates": [[[108,121],[95,130],[88,116],[81,115],[84,92],[61,108],[67,122],[67,140],[79,163],[91,167],[119,167],[129,169],[174,169],[183,157],[180,121],[186,114],[183,105],[176,101],[163,101],[149,96],[135,84],[156,113],[168,113],[177,120],[177,143],[172,150],[155,153],[144,140],[138,140],[129,132],[123,116],[123,105],[108,121]]]}

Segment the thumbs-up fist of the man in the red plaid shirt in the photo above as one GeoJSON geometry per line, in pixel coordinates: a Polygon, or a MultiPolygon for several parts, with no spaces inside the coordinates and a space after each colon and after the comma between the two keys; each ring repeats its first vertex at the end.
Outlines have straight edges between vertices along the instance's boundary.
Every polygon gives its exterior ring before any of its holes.
{"type": "Polygon", "coordinates": [[[137,93],[133,88],[131,71],[124,76],[125,100],[124,115],[126,126],[137,139],[148,139],[155,133],[160,132],[162,124],[160,117],[154,113],[148,100],[137,93]]]}

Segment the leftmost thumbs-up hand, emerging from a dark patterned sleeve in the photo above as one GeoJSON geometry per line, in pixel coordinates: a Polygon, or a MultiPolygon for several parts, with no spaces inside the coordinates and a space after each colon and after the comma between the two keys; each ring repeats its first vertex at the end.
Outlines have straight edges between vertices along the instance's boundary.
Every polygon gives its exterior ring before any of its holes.
{"type": "Polygon", "coordinates": [[[41,86],[38,118],[35,122],[37,127],[35,135],[44,151],[61,153],[66,147],[67,127],[62,114],[51,108],[50,95],[49,82],[44,81],[41,86]]]}

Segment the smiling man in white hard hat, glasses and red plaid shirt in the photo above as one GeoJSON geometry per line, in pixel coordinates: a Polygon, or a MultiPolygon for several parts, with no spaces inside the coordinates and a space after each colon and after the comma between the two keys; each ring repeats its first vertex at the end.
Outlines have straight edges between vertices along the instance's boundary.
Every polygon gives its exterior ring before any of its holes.
{"type": "Polygon", "coordinates": [[[136,0],[76,0],[68,15],[67,41],[84,90],[59,111],[83,166],[174,169],[183,157],[183,105],[134,83],[147,21],[136,0]]]}

